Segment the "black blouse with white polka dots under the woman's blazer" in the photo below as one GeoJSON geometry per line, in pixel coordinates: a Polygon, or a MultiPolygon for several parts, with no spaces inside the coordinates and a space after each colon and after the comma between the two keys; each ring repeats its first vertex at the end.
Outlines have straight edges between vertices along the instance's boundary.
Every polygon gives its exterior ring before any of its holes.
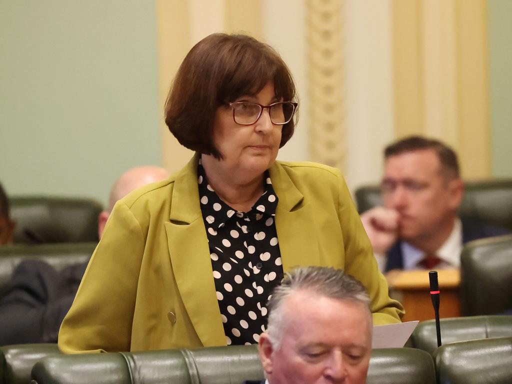
{"type": "Polygon", "coordinates": [[[249,212],[222,201],[198,166],[199,197],[227,345],[258,343],[267,325],[266,304],[283,279],[274,216],[278,197],[264,176],[265,191],[249,212]]]}

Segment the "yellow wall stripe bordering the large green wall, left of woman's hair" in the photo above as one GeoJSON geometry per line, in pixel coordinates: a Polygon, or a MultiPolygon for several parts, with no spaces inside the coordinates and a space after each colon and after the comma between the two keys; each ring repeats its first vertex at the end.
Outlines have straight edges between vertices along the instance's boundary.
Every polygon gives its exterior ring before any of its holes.
{"type": "Polygon", "coordinates": [[[192,152],[170,134],[164,121],[164,105],[169,86],[181,61],[190,49],[189,7],[181,0],[157,0],[158,111],[162,165],[171,172],[180,169],[192,152]]]}

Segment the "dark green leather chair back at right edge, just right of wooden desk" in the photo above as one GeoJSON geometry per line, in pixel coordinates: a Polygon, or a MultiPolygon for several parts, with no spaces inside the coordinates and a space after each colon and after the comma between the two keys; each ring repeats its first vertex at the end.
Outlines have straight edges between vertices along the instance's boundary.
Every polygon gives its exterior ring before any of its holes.
{"type": "Polygon", "coordinates": [[[512,310],[512,235],[467,243],[460,263],[462,315],[512,310]]]}

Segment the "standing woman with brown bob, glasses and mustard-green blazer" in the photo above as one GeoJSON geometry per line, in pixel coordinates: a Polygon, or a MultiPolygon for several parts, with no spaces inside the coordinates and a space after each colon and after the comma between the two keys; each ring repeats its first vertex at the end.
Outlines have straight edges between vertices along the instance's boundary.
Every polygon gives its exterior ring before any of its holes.
{"type": "Polygon", "coordinates": [[[375,324],[399,322],[339,171],[279,162],[295,86],[272,48],[210,35],[174,80],[165,121],[196,155],[112,212],[62,323],[63,352],[257,343],[270,291],[293,266],[344,269],[375,324]]]}

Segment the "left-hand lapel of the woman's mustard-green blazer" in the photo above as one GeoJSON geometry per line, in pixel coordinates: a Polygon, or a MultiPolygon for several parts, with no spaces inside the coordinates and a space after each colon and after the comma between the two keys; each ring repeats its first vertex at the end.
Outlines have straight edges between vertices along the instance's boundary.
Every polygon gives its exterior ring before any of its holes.
{"type": "Polygon", "coordinates": [[[226,338],[199,202],[198,161],[196,155],[176,177],[165,230],[181,299],[201,342],[209,347],[225,345],[226,338]]]}

